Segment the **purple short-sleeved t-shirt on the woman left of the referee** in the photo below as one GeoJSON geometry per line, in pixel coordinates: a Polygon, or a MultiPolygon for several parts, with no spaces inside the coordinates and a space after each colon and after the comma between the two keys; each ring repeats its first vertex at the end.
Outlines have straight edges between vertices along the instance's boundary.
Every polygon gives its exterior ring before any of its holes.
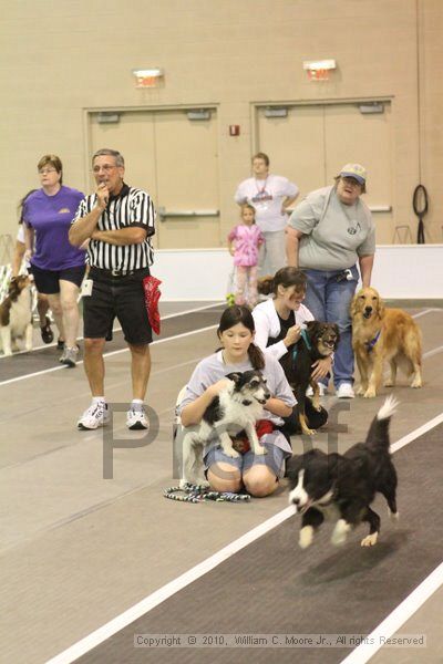
{"type": "Polygon", "coordinates": [[[73,247],[68,232],[84,196],[62,186],[55,196],[43,189],[31,194],[23,206],[23,219],[34,230],[35,247],[31,264],[41,270],[65,270],[83,266],[85,251],[73,247]]]}

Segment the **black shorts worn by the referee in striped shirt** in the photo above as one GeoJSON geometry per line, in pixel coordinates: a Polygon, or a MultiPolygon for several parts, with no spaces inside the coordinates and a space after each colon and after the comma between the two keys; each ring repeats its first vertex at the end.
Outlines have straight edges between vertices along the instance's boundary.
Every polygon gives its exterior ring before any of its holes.
{"type": "Polygon", "coordinates": [[[112,277],[106,270],[91,268],[92,293],[83,295],[84,338],[106,339],[117,318],[127,343],[151,343],[153,334],[143,290],[143,279],[148,274],[150,268],[126,277],[112,277]]]}

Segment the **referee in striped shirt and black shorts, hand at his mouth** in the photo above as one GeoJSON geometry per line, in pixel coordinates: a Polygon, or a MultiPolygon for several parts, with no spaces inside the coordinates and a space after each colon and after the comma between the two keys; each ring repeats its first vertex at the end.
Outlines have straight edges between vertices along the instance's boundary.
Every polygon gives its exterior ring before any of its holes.
{"type": "Polygon", "coordinates": [[[110,419],[104,396],[103,351],[116,317],[132,355],[133,401],[126,416],[131,429],[148,428],[144,398],[151,371],[148,322],[143,279],[153,262],[151,236],[155,209],[150,195],[124,183],[124,159],[114,149],[92,158],[95,194],[86,196],[72,221],[69,239],[80,247],[90,240],[89,279],[83,284],[84,369],[92,392],[80,429],[96,429],[110,419]]]}

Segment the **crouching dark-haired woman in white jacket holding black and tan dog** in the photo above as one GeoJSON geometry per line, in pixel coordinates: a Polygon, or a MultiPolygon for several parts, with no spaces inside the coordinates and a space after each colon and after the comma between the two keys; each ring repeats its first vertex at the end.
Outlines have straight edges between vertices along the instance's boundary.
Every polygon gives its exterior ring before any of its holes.
{"type": "MultiPolygon", "coordinates": [[[[255,343],[276,360],[280,360],[297,343],[301,336],[303,324],[315,320],[309,309],[302,304],[306,283],[305,273],[296,268],[281,268],[274,277],[266,277],[258,283],[260,293],[272,293],[274,297],[257,304],[253,310],[256,326],[255,343]]],[[[315,381],[321,381],[328,376],[330,371],[331,359],[324,357],[312,364],[311,375],[315,381]]],[[[319,383],[319,388],[322,396],[324,385],[319,383]]],[[[324,408],[320,413],[317,412],[310,401],[307,404],[309,426],[319,428],[327,422],[328,414],[324,408]]]]}

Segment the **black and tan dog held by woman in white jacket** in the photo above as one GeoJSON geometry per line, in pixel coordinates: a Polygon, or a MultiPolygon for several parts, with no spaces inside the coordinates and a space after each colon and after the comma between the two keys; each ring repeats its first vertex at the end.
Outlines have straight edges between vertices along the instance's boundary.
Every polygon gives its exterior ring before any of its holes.
{"type": "Polygon", "coordinates": [[[331,355],[339,340],[339,328],[334,323],[309,321],[306,323],[306,329],[301,331],[298,342],[290,346],[280,360],[298,402],[301,432],[309,436],[316,433],[315,429],[309,428],[305,411],[306,391],[309,385],[313,391],[313,407],[320,409],[318,383],[311,380],[312,364],[317,360],[331,355]]]}

